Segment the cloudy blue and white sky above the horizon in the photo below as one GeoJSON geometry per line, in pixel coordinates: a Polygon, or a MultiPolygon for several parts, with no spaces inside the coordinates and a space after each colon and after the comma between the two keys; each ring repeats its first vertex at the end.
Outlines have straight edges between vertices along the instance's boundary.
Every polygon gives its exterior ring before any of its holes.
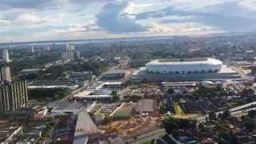
{"type": "Polygon", "coordinates": [[[256,32],[256,0],[0,0],[0,42],[256,32]]]}

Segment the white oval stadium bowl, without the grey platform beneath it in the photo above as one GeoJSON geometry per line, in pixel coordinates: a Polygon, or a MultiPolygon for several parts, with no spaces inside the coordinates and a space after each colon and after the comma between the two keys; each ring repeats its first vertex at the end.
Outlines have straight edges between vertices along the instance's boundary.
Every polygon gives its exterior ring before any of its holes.
{"type": "Polygon", "coordinates": [[[218,72],[222,62],[214,58],[158,59],[146,64],[153,74],[197,74],[218,72]]]}

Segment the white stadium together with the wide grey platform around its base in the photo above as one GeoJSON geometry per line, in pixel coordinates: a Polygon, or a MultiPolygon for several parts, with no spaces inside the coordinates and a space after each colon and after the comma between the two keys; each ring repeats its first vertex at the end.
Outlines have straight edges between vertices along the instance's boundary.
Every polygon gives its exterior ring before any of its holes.
{"type": "Polygon", "coordinates": [[[134,72],[131,80],[154,82],[220,81],[240,79],[241,75],[213,58],[155,60],[134,72]]]}

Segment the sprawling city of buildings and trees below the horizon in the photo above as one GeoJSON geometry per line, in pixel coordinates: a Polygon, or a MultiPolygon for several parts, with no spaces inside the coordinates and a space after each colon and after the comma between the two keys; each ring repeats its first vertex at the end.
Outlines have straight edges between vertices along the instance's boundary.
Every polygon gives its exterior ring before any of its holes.
{"type": "Polygon", "coordinates": [[[1,143],[256,143],[256,34],[0,51],[1,143]]]}

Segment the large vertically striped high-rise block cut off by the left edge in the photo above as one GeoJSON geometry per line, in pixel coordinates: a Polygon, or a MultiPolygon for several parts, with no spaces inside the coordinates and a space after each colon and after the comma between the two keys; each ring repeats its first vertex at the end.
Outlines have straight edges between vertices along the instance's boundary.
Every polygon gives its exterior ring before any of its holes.
{"type": "Polygon", "coordinates": [[[28,102],[26,82],[3,82],[0,85],[0,113],[26,106],[28,102]]]}

